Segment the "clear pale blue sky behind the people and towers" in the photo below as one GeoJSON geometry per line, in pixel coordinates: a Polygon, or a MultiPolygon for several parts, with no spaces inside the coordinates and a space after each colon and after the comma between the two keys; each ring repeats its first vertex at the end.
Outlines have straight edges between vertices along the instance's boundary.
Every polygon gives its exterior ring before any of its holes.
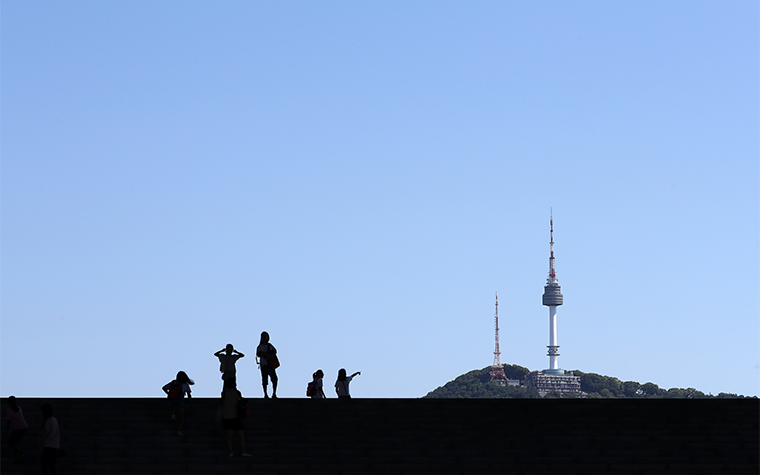
{"type": "Polygon", "coordinates": [[[0,396],[545,369],[550,209],[561,368],[760,394],[758,2],[0,14],[0,396]]]}

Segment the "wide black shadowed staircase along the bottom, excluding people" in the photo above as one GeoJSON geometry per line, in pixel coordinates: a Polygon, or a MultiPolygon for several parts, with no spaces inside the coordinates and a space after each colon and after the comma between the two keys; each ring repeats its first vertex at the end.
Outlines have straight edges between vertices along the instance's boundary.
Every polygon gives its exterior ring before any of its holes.
{"type": "MultiPolygon", "coordinates": [[[[19,399],[22,463],[3,439],[2,473],[39,473],[41,413],[61,425],[60,473],[727,473],[760,469],[755,400],[251,400],[253,458],[227,456],[217,399],[193,399],[184,437],[165,399],[19,399]]],[[[5,410],[5,408],[3,408],[5,410]]],[[[3,436],[5,434],[3,433],[3,436]]]]}

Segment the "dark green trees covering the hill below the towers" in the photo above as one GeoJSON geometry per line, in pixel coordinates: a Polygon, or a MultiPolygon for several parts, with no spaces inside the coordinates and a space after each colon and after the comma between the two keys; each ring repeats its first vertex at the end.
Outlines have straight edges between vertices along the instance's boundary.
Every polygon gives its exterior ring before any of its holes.
{"type": "MultiPolygon", "coordinates": [[[[516,379],[521,382],[520,386],[500,386],[494,381],[490,381],[491,367],[476,369],[465,373],[453,381],[430,391],[424,397],[426,398],[474,398],[474,399],[533,399],[540,398],[536,388],[529,388],[523,385],[525,377],[530,374],[528,368],[505,364],[504,374],[509,379],[516,379]]],[[[690,398],[743,398],[737,394],[720,393],[717,396],[705,394],[694,388],[670,388],[662,389],[654,383],[637,383],[636,381],[621,381],[612,376],[603,376],[596,373],[584,373],[574,370],[568,371],[568,374],[580,376],[581,391],[586,393],[585,397],[589,399],[620,399],[620,398],[637,398],[637,399],[690,399],[690,398]]],[[[581,394],[564,394],[560,395],[556,391],[546,394],[546,398],[577,398],[583,397],[581,394]]]]}

